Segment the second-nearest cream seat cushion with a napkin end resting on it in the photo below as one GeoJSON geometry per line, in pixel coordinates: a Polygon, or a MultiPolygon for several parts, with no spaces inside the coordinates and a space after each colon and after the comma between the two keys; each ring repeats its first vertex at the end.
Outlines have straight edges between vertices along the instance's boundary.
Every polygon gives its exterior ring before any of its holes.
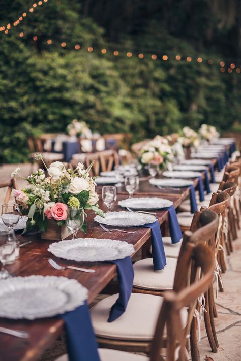
{"type": "MultiPolygon", "coordinates": [[[[118,294],[113,294],[101,300],[91,310],[95,334],[117,340],[152,340],[163,298],[152,294],[132,293],[122,316],[113,322],[107,322],[110,308],[117,298],[118,294]]],[[[186,308],[181,315],[185,326],[188,317],[186,308]]]]}

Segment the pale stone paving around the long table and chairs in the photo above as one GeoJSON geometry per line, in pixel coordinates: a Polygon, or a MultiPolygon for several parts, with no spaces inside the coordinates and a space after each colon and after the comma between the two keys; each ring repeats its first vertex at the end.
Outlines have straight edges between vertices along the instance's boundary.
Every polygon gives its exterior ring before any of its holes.
{"type": "MultiPolygon", "coordinates": [[[[21,174],[25,177],[29,174],[29,165],[16,165],[21,168],[21,174]]],[[[15,165],[6,165],[0,168],[2,172],[11,174],[15,165]]],[[[24,180],[17,178],[19,188],[24,186],[24,180]]],[[[0,189],[0,202],[3,203],[5,189],[0,189]]],[[[205,333],[204,322],[201,327],[201,341],[199,345],[200,361],[204,361],[206,355],[214,361],[240,361],[241,360],[241,232],[234,242],[234,252],[227,257],[228,270],[222,275],[225,292],[218,293],[216,300],[219,317],[216,319],[218,334],[218,353],[210,351],[205,333]]],[[[65,343],[62,339],[45,352],[39,361],[54,361],[56,357],[65,352],[65,343]]]]}

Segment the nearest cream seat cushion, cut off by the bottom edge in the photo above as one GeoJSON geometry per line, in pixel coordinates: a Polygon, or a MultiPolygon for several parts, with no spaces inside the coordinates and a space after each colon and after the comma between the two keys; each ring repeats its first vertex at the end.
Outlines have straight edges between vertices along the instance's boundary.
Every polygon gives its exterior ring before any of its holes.
{"type": "MultiPolygon", "coordinates": [[[[148,361],[149,357],[136,355],[134,353],[99,348],[98,353],[101,361],[148,361]]],[[[67,354],[57,358],[55,361],[69,361],[67,354]]]]}

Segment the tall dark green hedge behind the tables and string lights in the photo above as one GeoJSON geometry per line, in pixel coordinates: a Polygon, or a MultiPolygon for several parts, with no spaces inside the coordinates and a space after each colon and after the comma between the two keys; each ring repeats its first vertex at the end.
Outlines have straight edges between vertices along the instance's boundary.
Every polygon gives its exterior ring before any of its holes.
{"type": "Polygon", "coordinates": [[[29,13],[32,2],[3,0],[1,25],[24,11],[27,17],[0,33],[0,162],[26,161],[28,136],[63,132],[74,118],[101,134],[130,132],[132,142],[184,125],[196,129],[205,122],[225,130],[237,124],[241,74],[221,73],[219,65],[237,57],[235,42],[223,46],[236,15],[230,23],[227,10],[216,13],[214,3],[48,0],[29,13]]]}

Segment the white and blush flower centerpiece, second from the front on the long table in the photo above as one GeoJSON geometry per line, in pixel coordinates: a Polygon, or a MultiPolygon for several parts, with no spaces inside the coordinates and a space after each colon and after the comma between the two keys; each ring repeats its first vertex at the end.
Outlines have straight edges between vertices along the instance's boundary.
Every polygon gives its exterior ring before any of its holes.
{"type": "Polygon", "coordinates": [[[153,140],[145,143],[140,153],[140,163],[142,166],[156,165],[159,171],[168,168],[174,159],[168,140],[161,136],[156,136],[153,140]]]}

